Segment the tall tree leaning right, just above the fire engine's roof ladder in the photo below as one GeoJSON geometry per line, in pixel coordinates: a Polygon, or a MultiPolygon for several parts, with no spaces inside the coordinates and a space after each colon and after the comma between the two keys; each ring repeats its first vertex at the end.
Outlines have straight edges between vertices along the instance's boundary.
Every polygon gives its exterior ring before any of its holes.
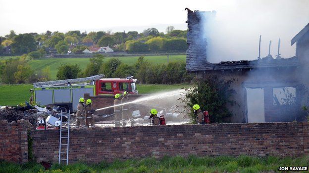
{"type": "Polygon", "coordinates": [[[94,58],[90,58],[90,63],[87,65],[83,72],[84,77],[93,76],[99,74],[99,71],[103,65],[104,56],[101,54],[94,55],[94,58]]]}

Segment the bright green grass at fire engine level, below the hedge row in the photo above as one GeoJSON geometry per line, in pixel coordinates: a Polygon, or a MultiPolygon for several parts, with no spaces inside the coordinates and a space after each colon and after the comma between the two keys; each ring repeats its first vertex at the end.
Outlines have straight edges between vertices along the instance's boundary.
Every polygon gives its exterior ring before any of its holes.
{"type": "MultiPolygon", "coordinates": [[[[190,86],[189,84],[177,85],[137,85],[140,94],[149,94],[159,91],[181,89],[190,86]]],[[[31,93],[29,89],[32,84],[22,85],[0,85],[0,105],[17,105],[29,101],[31,93]]]]}

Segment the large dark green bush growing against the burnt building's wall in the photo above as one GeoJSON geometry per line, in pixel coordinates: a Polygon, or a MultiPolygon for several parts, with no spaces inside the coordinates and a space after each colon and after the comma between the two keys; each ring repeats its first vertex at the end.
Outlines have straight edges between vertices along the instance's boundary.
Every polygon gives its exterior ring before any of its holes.
{"type": "Polygon", "coordinates": [[[230,100],[235,93],[230,89],[234,80],[224,80],[217,75],[208,75],[194,82],[191,89],[187,89],[185,94],[186,106],[191,110],[189,113],[192,123],[196,123],[196,115],[193,113],[192,106],[199,104],[202,110],[208,110],[211,123],[227,123],[227,117],[232,116],[232,112],[226,107],[227,104],[236,104],[230,100]]]}

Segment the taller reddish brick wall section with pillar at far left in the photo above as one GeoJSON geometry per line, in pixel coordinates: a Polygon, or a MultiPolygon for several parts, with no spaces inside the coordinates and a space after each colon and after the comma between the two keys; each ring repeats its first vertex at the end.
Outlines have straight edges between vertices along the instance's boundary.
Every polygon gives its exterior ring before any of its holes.
{"type": "Polygon", "coordinates": [[[29,121],[0,121],[0,160],[24,163],[28,161],[27,130],[29,121]]]}

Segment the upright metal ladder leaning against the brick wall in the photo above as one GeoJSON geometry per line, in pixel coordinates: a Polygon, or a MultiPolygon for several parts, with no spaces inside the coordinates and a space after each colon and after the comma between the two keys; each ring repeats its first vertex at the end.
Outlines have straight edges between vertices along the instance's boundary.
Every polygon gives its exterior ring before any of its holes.
{"type": "Polygon", "coordinates": [[[62,123],[62,116],[63,116],[62,111],[60,115],[61,117],[60,117],[60,138],[59,138],[58,163],[60,164],[61,162],[66,161],[66,165],[68,165],[69,163],[69,137],[70,137],[70,110],[69,110],[67,122],[62,123]],[[67,128],[65,128],[66,126],[67,128]],[[62,127],[64,127],[64,129],[62,129],[62,127]],[[61,157],[63,159],[61,159],[61,157]]]}

